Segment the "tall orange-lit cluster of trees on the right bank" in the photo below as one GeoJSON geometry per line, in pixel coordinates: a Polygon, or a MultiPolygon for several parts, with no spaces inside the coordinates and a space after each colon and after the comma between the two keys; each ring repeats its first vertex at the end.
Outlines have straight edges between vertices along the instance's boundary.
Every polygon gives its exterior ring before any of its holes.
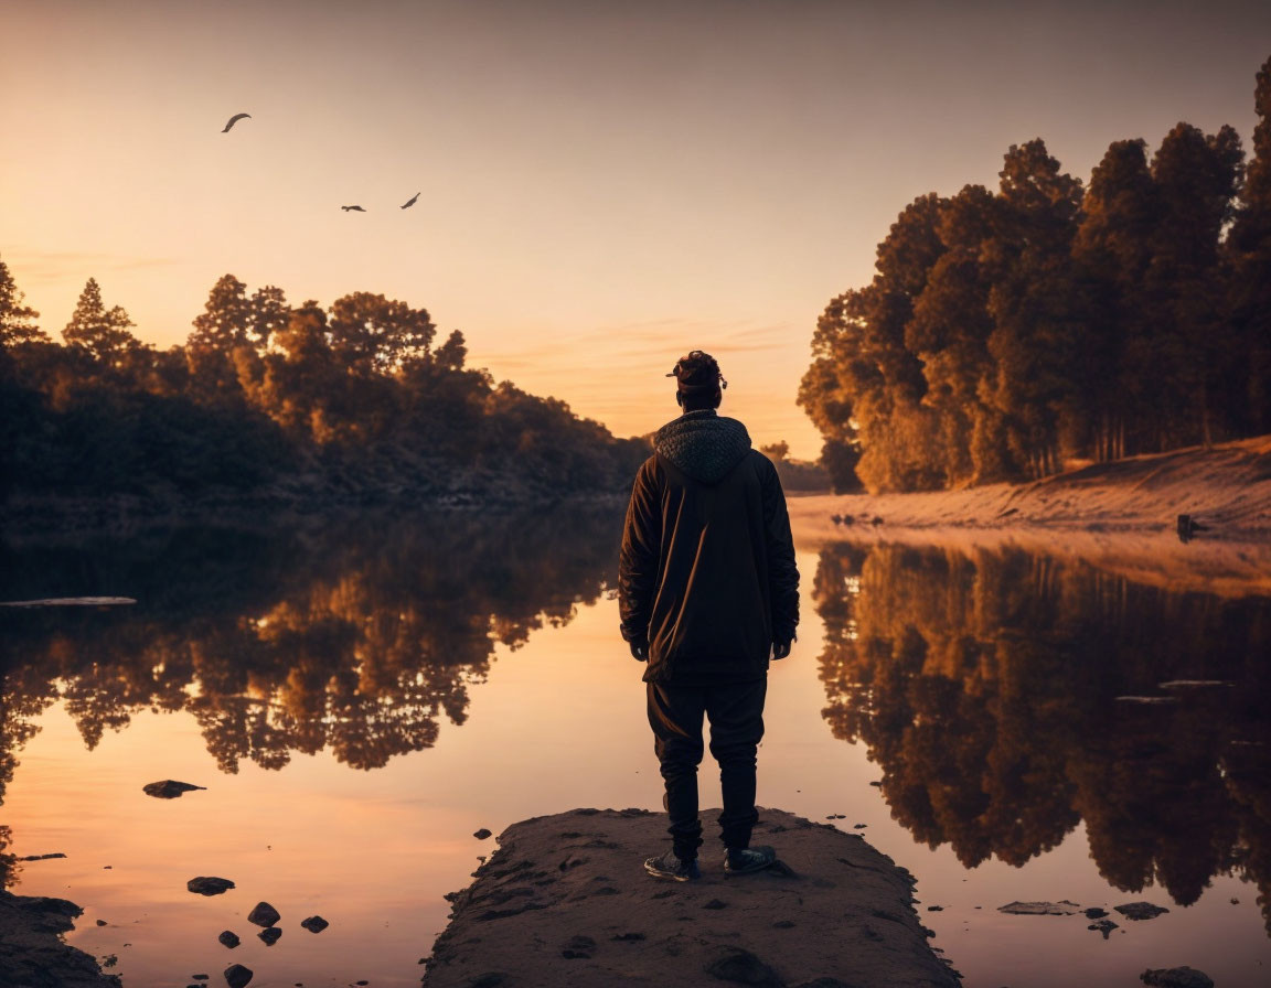
{"type": "Polygon", "coordinates": [[[1089,184],[1038,138],[996,192],[910,203],[817,321],[798,401],[835,485],[939,490],[1271,431],[1271,58],[1258,123],[1115,141],[1089,184]]]}

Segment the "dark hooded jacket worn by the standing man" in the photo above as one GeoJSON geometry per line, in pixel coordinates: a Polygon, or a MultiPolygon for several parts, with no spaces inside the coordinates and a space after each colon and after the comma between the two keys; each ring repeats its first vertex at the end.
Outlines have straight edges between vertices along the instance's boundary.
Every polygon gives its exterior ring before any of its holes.
{"type": "Polygon", "coordinates": [[[646,681],[754,679],[798,625],[798,570],[777,469],[746,427],[690,411],[636,475],[619,560],[623,638],[646,681]]]}

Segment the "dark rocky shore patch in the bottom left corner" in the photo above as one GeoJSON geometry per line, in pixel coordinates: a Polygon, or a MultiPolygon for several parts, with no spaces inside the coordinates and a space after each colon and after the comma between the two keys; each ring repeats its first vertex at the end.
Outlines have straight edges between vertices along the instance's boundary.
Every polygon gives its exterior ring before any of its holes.
{"type": "Polygon", "coordinates": [[[0,984],[23,988],[118,988],[97,961],[64,944],[81,909],[65,899],[0,891],[0,984]]]}

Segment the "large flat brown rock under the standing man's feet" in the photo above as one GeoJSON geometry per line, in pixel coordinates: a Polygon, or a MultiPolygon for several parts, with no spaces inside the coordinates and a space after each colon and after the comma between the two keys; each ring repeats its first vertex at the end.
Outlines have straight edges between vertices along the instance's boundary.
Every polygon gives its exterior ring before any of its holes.
{"type": "Polygon", "coordinates": [[[909,872],[854,834],[761,810],[755,843],[784,867],[726,876],[708,843],[689,883],[644,874],[667,842],[666,817],[644,810],[508,827],[473,885],[447,897],[423,984],[958,984],[927,945],[909,872]]]}

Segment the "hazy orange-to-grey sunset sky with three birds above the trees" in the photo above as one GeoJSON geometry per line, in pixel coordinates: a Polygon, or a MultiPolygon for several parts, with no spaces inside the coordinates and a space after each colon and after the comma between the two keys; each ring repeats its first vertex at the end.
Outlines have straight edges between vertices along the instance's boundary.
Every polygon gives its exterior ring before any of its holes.
{"type": "Polygon", "coordinates": [[[0,259],[51,335],[89,277],[159,345],[225,273],[381,292],[624,436],[710,350],[812,457],[816,317],[907,202],[1038,136],[1083,180],[1181,119],[1248,146],[1271,3],[0,0],[0,259]]]}

